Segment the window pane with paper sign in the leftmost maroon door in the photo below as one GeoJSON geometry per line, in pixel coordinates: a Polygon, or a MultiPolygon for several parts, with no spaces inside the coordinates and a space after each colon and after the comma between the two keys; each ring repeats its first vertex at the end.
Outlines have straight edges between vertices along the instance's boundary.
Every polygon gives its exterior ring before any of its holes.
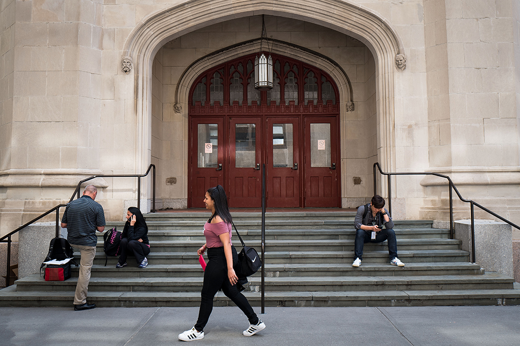
{"type": "Polygon", "coordinates": [[[198,125],[198,165],[199,168],[218,166],[218,124],[198,125]]]}

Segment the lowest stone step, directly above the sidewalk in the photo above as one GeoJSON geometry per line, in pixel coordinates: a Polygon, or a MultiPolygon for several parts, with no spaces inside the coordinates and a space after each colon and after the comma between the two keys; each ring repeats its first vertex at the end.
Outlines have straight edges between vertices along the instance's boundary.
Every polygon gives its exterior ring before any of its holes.
{"type": "MultiPolygon", "coordinates": [[[[261,306],[261,292],[244,291],[254,307],[261,306]]],[[[427,305],[520,305],[520,289],[390,290],[265,292],[266,307],[414,307],[427,305]]],[[[2,307],[72,307],[74,291],[16,291],[16,285],[0,290],[2,307]]],[[[103,292],[88,294],[98,307],[198,307],[200,292],[103,292]]],[[[218,292],[213,305],[232,302],[218,292]]]]}

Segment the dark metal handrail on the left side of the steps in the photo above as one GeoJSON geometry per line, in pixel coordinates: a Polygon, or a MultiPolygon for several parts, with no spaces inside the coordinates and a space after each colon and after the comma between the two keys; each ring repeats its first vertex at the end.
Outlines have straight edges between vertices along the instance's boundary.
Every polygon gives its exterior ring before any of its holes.
{"type": "MultiPolygon", "coordinates": [[[[89,180],[92,180],[94,178],[98,178],[98,177],[105,177],[105,178],[139,178],[137,180],[137,208],[140,207],[140,200],[141,200],[141,178],[142,177],[146,177],[149,173],[150,173],[150,170],[153,168],[153,173],[152,173],[152,199],[153,199],[153,202],[152,202],[152,212],[155,212],[155,165],[154,164],[150,164],[150,166],[148,167],[148,170],[146,171],[145,174],[118,174],[118,175],[104,175],[104,174],[99,174],[99,175],[95,175],[95,176],[92,176],[92,177],[89,177],[89,178],[86,178],[86,179],[83,179],[82,181],[80,181],[78,184],[77,184],[77,187],[76,189],[74,190],[74,193],[72,194],[72,197],[70,198],[70,201],[69,203],[71,203],[74,199],[74,196],[76,195],[77,193],[77,198],[80,198],[80,189],[81,189],[81,184],[83,184],[84,182],[86,181],[89,181],[89,180]]],[[[67,204],[60,204],[60,205],[57,205],[56,207],[52,208],[52,209],[49,209],[47,210],[46,212],[44,212],[42,215],[40,216],[37,216],[36,218],[32,219],[31,221],[25,223],[24,225],[21,225],[19,228],[17,228],[16,230],[4,235],[2,238],[0,238],[0,243],[4,243],[6,242],[5,239],[7,238],[7,273],[6,273],[6,279],[5,279],[5,287],[8,287],[10,286],[9,285],[9,281],[11,279],[10,277],[10,267],[11,267],[11,236],[16,234],[17,232],[19,232],[20,230],[24,229],[25,227],[29,226],[30,224],[44,218],[45,216],[49,215],[51,212],[53,211],[56,211],[56,236],[59,236],[60,234],[60,208],[61,207],[65,207],[67,206],[69,203],[67,204]]]]}

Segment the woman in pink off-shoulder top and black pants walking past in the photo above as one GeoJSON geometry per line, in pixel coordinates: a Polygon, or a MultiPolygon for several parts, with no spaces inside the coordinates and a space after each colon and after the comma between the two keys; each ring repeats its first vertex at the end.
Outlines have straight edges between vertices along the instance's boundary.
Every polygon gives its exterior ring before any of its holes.
{"type": "Polygon", "coordinates": [[[202,255],[207,249],[209,259],[204,271],[199,319],[193,328],[179,334],[179,340],[192,341],[204,337],[204,327],[213,310],[213,298],[219,289],[248,317],[251,325],[242,334],[252,336],[264,329],[265,324],[259,320],[249,301],[237,289],[238,277],[233,269],[233,262],[237,262],[238,256],[237,250],[231,244],[231,214],[224,188],[217,185],[216,188],[207,190],[204,204],[211,211],[211,217],[204,225],[206,244],[197,250],[197,254],[202,255]]]}

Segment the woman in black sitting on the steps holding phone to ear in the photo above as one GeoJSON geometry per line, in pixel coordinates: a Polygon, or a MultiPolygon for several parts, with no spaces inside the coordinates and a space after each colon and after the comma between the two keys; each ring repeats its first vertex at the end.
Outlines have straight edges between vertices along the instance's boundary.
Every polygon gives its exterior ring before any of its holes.
{"type": "Polygon", "coordinates": [[[121,238],[121,256],[115,268],[126,267],[126,257],[134,255],[139,268],[146,268],[148,260],[146,256],[150,253],[148,242],[148,226],[141,211],[136,207],[129,207],[126,212],[126,223],[121,238]]]}

